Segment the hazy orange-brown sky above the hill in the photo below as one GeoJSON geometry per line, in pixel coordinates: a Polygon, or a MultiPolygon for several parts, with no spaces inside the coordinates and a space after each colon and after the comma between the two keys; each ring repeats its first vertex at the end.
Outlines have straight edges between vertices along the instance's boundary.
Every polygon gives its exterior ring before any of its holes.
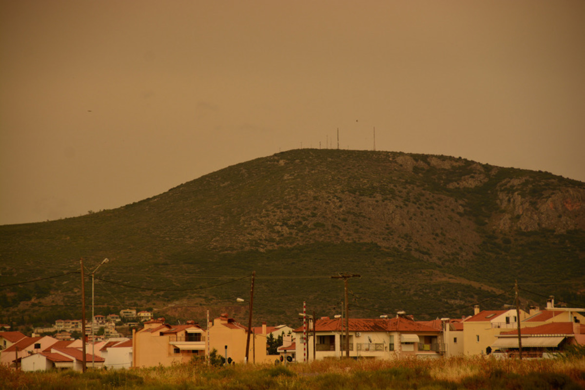
{"type": "Polygon", "coordinates": [[[582,0],[1,0],[0,45],[0,224],[337,128],[343,149],[375,126],[376,150],[585,181],[582,0]]]}

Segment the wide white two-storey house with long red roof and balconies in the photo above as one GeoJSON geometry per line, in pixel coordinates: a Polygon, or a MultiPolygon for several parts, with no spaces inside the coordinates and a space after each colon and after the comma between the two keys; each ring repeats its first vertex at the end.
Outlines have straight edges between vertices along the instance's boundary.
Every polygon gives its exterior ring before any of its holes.
{"type": "MultiPolygon", "coordinates": [[[[297,361],[322,360],[347,355],[345,320],[322,317],[312,323],[304,343],[303,327],[295,329],[297,361]]],[[[410,317],[349,319],[349,356],[392,359],[403,356],[439,357],[441,330],[410,317]]]]}

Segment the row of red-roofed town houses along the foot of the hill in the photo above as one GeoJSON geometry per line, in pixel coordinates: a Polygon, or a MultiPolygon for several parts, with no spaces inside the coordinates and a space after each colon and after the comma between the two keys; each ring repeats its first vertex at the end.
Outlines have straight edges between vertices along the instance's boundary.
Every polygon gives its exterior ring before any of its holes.
{"type": "MultiPolygon", "coordinates": [[[[108,370],[166,366],[192,358],[205,359],[212,351],[231,364],[299,364],[345,357],[511,358],[519,355],[519,345],[524,358],[549,358],[564,353],[570,346],[585,344],[583,312],[585,309],[555,307],[550,299],[542,310],[480,310],[476,306],[471,316],[430,321],[417,321],[403,312],[391,318],[374,319],[321,317],[313,321],[308,316],[304,325],[296,329],[267,326],[264,322],[249,330],[227,314],[212,319],[206,326],[193,321],[170,325],[164,318],[148,319],[133,330],[132,337],[109,337],[96,340],[95,344],[88,340],[85,365],[108,370]],[[278,336],[283,336],[283,344],[277,348],[277,355],[269,355],[267,340],[278,336]]],[[[119,317],[129,320],[148,317],[144,313],[139,317],[139,313],[122,310],[119,317]]],[[[115,321],[116,316],[98,320],[115,321]]],[[[82,370],[83,361],[81,340],[0,332],[2,365],[23,371],[82,370]]]]}

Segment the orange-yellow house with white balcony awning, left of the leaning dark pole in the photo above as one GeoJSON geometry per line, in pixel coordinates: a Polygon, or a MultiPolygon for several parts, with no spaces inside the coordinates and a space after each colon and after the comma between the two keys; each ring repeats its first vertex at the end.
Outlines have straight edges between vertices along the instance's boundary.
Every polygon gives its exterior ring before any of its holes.
{"type": "Polygon", "coordinates": [[[132,367],[184,363],[194,356],[205,356],[205,332],[193,321],[168,325],[164,318],[144,322],[132,330],[132,367]]]}

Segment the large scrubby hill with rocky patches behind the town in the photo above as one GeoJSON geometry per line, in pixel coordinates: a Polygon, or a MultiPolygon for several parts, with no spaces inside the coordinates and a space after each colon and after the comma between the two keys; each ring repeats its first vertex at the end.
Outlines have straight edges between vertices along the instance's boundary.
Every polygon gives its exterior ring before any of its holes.
{"type": "Polygon", "coordinates": [[[210,309],[245,322],[235,298],[249,298],[241,278],[253,270],[254,317],[269,323],[290,323],[303,301],[339,314],[339,272],[362,275],[350,281],[352,316],[500,308],[515,279],[525,304],[585,305],[585,184],[447,156],[291,150],[122,208],[0,226],[0,236],[0,322],[80,317],[80,276],[67,273],[105,257],[104,314],[152,307],[204,321],[210,309]]]}

